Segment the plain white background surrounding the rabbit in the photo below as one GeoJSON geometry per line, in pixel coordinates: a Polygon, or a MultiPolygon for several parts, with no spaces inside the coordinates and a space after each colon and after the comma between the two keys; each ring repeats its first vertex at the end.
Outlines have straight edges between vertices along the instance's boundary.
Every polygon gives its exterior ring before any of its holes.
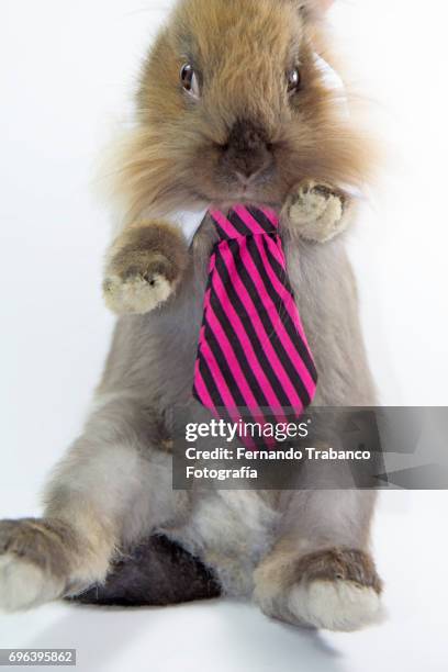
{"type": "MultiPolygon", "coordinates": [[[[91,176],[169,4],[1,0],[2,517],[38,512],[101,371],[113,326],[100,293],[109,220],[91,176]]],[[[341,1],[332,22],[390,159],[351,243],[381,399],[448,405],[448,8],[341,1]]],[[[382,495],[374,545],[390,616],[363,632],[307,634],[235,602],[51,605],[0,616],[0,647],[77,647],[82,670],[446,670],[447,512],[446,493],[382,495]]]]}

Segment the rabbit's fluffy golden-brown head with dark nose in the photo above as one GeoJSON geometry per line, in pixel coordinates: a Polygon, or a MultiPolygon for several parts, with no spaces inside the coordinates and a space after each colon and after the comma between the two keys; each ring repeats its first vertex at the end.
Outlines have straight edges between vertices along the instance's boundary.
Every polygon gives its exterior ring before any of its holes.
{"type": "Polygon", "coordinates": [[[360,138],[317,57],[325,3],[177,4],[142,72],[122,166],[131,216],[194,203],[276,205],[306,177],[362,182],[360,138]]]}

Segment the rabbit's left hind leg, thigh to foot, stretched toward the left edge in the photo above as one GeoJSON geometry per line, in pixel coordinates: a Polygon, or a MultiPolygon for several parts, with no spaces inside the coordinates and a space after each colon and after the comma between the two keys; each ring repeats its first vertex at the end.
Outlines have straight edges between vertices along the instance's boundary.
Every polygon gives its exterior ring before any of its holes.
{"type": "Polygon", "coordinates": [[[104,582],[124,542],[173,515],[170,457],[157,449],[155,424],[136,400],[107,403],[57,466],[44,517],[0,522],[0,608],[104,582]]]}

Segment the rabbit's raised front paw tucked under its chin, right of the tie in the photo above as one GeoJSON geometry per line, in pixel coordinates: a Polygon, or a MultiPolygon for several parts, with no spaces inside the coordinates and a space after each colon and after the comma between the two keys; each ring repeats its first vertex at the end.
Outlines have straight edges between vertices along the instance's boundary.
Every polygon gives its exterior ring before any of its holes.
{"type": "Polygon", "coordinates": [[[346,209],[347,197],[340,191],[304,180],[289,195],[284,213],[303,238],[325,243],[346,228],[346,209]]]}

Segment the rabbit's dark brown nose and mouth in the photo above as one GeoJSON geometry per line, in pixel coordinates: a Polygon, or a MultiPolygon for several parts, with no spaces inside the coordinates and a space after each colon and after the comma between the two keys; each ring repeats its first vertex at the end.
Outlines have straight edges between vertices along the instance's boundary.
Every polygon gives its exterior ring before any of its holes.
{"type": "Polygon", "coordinates": [[[248,120],[237,121],[228,136],[223,157],[226,168],[248,181],[272,164],[265,131],[248,120]]]}

